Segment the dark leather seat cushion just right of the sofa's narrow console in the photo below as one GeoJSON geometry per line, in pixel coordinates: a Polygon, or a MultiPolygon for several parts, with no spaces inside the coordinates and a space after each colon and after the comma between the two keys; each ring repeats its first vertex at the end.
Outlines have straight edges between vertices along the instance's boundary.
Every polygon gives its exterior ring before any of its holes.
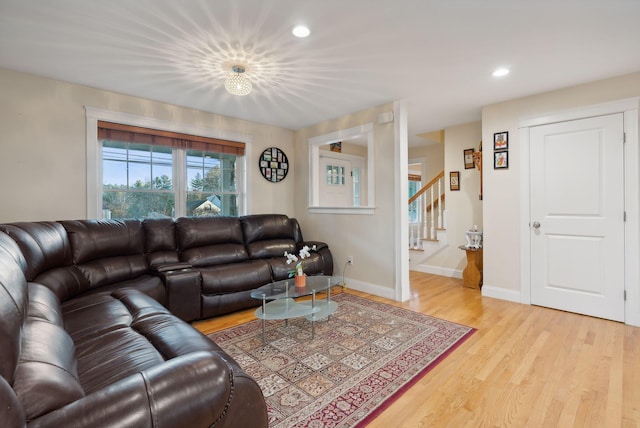
{"type": "Polygon", "coordinates": [[[201,268],[200,272],[203,295],[253,290],[271,282],[271,269],[265,260],[201,268]]]}

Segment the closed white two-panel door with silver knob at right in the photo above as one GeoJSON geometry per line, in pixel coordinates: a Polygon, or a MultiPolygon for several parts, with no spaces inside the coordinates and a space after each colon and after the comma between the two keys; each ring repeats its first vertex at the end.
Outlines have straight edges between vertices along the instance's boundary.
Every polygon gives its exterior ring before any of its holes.
{"type": "Polygon", "coordinates": [[[624,321],[623,115],[530,128],[531,303],[624,321]]]}

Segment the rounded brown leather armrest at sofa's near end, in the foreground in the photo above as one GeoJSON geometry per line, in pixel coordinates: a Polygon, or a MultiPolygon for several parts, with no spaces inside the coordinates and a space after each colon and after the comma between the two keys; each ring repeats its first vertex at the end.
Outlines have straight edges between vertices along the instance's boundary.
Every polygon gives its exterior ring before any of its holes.
{"type": "Polygon", "coordinates": [[[266,427],[260,388],[220,356],[194,352],[95,391],[29,423],[64,426],[266,427]]]}

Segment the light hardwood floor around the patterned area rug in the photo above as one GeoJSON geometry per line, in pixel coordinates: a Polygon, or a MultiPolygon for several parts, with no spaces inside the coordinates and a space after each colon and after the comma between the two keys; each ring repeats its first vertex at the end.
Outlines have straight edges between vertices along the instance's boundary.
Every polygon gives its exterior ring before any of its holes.
{"type": "MultiPolygon", "coordinates": [[[[477,329],[370,427],[640,427],[640,328],[418,272],[404,303],[346,292],[477,329]]],[[[253,310],[194,325],[209,333],[251,319],[253,310]]]]}

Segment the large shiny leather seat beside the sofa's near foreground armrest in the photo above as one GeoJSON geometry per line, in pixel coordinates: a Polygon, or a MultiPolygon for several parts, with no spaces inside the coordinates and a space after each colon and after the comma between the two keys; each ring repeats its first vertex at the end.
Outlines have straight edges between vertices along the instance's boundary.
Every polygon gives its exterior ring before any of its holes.
{"type": "Polygon", "coordinates": [[[165,361],[219,348],[149,296],[122,289],[63,305],[86,394],[165,361]]]}

